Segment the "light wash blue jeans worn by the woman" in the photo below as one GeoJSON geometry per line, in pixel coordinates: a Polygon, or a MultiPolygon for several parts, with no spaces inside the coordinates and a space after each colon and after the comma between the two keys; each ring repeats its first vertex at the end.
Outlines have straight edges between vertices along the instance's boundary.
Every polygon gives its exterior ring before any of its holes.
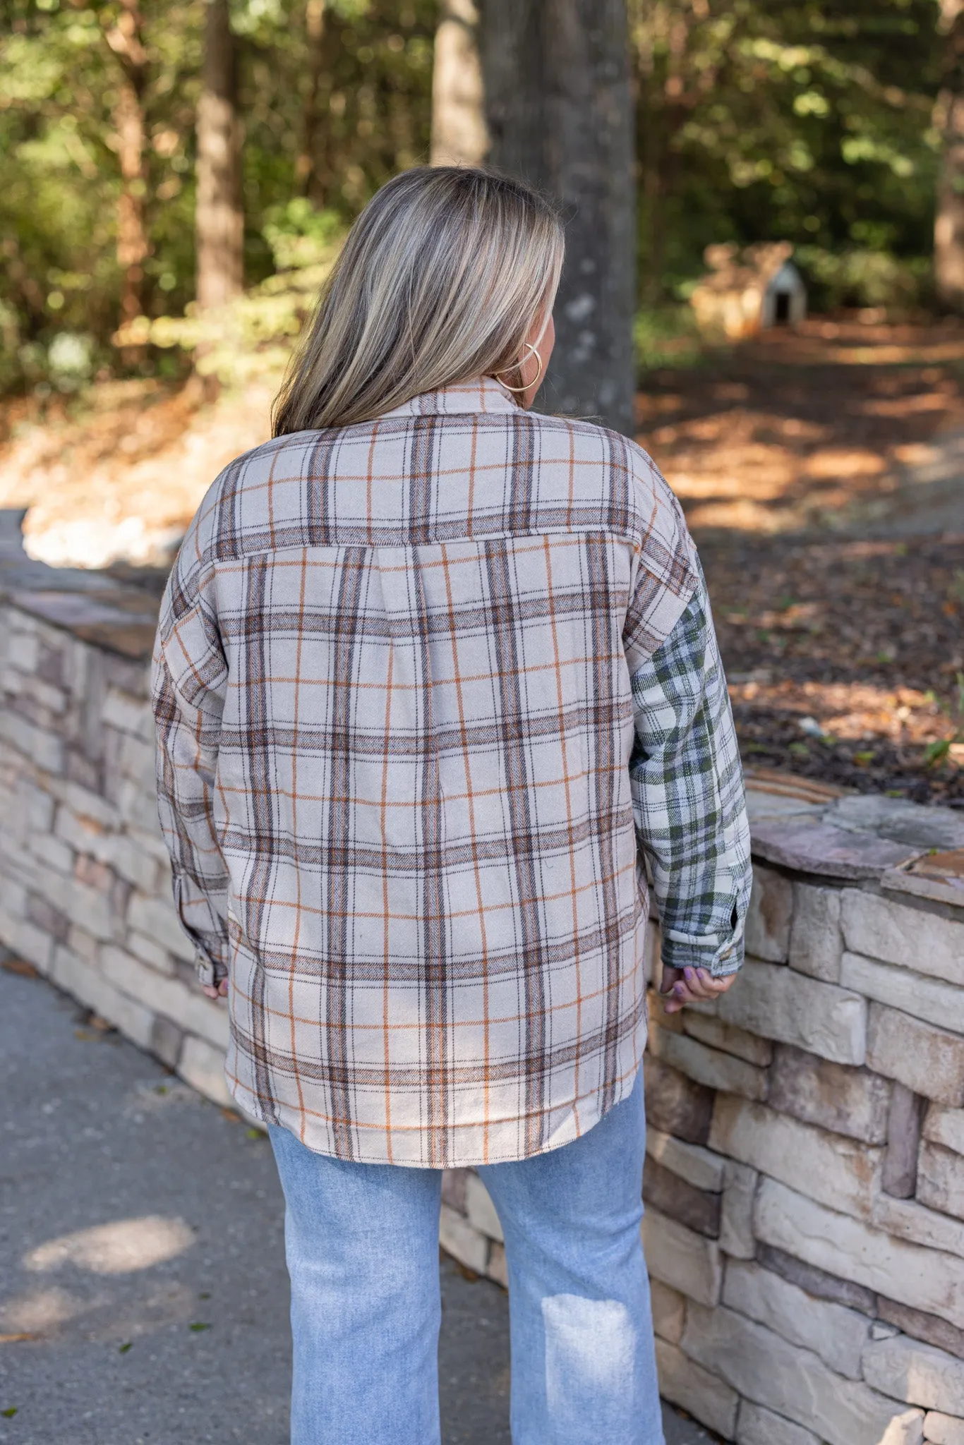
{"type": "MultiPolygon", "coordinates": [[[[438,1169],[270,1130],[285,1189],[292,1445],[438,1445],[438,1169]]],[[[515,1445],[663,1445],[639,1237],[640,1078],[571,1144],[478,1169],[506,1235],[515,1445]]]]}

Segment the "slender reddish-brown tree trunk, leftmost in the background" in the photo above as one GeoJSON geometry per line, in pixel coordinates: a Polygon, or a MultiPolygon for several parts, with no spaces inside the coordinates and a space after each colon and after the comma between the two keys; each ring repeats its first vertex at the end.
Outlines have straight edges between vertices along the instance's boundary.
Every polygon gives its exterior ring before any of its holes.
{"type": "Polygon", "coordinates": [[[120,13],[106,36],[121,68],[114,101],[114,144],[121,179],[117,201],[117,264],[123,272],[120,298],[123,324],[140,315],[145,259],[150,250],[145,224],[147,199],[145,156],[147,51],[143,43],[143,17],[137,0],[121,0],[120,13]]]}

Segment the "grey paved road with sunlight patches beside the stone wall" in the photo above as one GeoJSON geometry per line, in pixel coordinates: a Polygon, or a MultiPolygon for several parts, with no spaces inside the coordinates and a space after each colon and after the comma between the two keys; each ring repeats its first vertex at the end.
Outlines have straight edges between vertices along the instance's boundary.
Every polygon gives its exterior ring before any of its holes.
{"type": "MultiPolygon", "coordinates": [[[[445,1445],[509,1445],[507,1299],[442,1298],[445,1445]]],[[[1,1445],[285,1445],[286,1314],[264,1137],[0,968],[1,1445]]]]}

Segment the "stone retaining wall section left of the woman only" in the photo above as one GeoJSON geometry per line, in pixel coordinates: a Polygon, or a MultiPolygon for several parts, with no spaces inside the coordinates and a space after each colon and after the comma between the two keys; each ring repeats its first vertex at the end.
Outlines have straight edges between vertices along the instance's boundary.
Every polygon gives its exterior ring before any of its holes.
{"type": "Polygon", "coordinates": [[[158,605],[29,562],[3,520],[0,945],[228,1104],[227,1010],[198,988],[158,825],[158,605]]]}

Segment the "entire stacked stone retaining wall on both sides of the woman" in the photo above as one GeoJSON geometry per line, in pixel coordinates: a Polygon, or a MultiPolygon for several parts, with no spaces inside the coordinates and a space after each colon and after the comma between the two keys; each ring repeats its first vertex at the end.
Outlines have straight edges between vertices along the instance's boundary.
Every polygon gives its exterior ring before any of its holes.
{"type": "MultiPolygon", "coordinates": [[[[0,945],[228,1103],[155,815],[156,607],[0,525],[3,587],[0,945]]],[[[740,1445],[964,1445],[964,818],[780,777],[749,799],[744,974],[682,1016],[650,996],[662,1390],[740,1445]]],[[[471,1170],[441,1238],[506,1283],[471,1170]]]]}

